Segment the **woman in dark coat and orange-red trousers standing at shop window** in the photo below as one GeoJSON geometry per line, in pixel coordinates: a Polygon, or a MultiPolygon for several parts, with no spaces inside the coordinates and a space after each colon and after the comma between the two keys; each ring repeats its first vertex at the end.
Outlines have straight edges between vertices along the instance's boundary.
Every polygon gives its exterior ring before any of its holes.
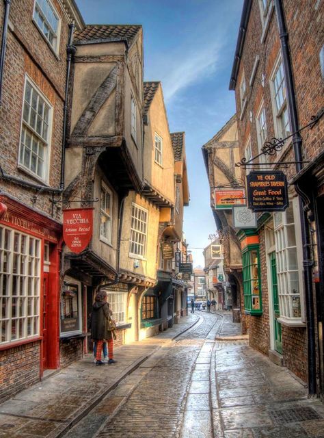
{"type": "Polygon", "coordinates": [[[92,305],[91,318],[91,337],[96,342],[96,365],[105,365],[101,361],[101,350],[103,342],[108,344],[108,363],[116,363],[113,360],[113,333],[109,329],[109,321],[111,320],[112,311],[109,309],[107,292],[99,291],[96,294],[94,304],[92,305]]]}

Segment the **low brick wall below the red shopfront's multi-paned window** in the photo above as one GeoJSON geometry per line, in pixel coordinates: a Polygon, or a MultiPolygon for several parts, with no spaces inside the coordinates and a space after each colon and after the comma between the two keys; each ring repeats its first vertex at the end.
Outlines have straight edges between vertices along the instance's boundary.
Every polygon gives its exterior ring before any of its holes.
{"type": "Polygon", "coordinates": [[[0,403],[40,380],[40,342],[0,351],[0,403]]]}

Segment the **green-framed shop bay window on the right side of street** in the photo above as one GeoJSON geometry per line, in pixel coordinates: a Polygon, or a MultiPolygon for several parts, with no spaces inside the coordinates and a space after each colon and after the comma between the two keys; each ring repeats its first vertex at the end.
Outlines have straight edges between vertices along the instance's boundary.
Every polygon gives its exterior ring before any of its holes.
{"type": "Polygon", "coordinates": [[[242,253],[245,313],[262,314],[259,246],[249,245],[242,253]]]}

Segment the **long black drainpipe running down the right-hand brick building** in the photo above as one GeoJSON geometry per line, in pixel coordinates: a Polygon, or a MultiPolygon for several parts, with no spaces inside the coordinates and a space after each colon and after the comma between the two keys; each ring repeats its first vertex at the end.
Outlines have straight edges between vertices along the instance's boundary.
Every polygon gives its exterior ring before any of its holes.
{"type": "MultiPolygon", "coordinates": [[[[288,46],[288,33],[284,21],[284,10],[282,0],[275,0],[275,10],[277,12],[280,44],[282,50],[282,65],[284,66],[284,77],[286,80],[288,114],[291,129],[296,132],[299,129],[297,116],[297,103],[295,99],[293,85],[293,70],[291,68],[291,58],[288,46]]],[[[293,148],[295,153],[296,172],[302,168],[301,136],[299,133],[293,135],[293,148]]],[[[312,300],[312,257],[310,257],[310,239],[308,232],[308,220],[303,210],[301,198],[299,196],[299,211],[301,218],[301,240],[303,246],[303,275],[306,292],[306,315],[307,315],[307,340],[308,340],[308,391],[312,396],[316,394],[316,348],[315,348],[315,322],[314,307],[312,300]]]]}

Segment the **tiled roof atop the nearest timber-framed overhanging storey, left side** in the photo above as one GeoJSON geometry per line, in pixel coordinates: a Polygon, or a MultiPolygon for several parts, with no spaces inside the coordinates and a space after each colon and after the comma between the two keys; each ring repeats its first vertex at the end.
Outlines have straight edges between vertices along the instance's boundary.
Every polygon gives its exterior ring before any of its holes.
{"type": "Polygon", "coordinates": [[[133,44],[141,25],[87,25],[75,31],[74,42],[125,41],[129,47],[133,44]]]}

